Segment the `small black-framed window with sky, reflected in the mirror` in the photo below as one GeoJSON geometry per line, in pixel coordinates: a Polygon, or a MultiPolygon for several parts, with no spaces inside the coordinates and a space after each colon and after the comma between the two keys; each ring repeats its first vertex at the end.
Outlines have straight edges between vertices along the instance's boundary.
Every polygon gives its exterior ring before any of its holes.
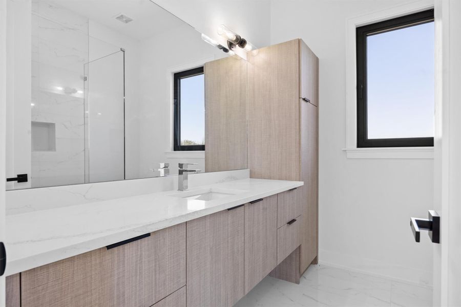
{"type": "Polygon", "coordinates": [[[205,150],[203,67],[174,74],[174,150],[205,150]]]}

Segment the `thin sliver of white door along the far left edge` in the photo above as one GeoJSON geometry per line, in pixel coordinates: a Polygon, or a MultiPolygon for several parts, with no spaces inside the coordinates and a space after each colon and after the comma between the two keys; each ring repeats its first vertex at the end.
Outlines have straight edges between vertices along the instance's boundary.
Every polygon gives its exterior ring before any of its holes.
{"type": "MultiPolygon", "coordinates": [[[[0,1],[0,242],[5,241],[6,7],[0,1]]],[[[0,306],[5,306],[5,276],[0,277],[0,306]]]]}

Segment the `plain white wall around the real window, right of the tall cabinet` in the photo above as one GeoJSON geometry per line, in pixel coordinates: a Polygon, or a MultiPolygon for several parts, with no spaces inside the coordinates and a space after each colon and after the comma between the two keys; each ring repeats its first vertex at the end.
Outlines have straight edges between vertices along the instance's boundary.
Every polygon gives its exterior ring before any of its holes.
{"type": "Polygon", "coordinates": [[[271,43],[302,38],[320,59],[319,260],[432,283],[432,244],[415,243],[410,216],[433,202],[430,159],[347,159],[347,19],[408,1],[274,1],[271,43]]]}

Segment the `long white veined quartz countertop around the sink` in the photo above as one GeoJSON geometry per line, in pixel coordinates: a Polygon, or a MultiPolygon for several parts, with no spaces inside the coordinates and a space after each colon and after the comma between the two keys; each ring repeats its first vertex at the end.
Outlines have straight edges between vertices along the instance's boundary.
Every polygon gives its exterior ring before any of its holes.
{"type": "Polygon", "coordinates": [[[50,264],[302,185],[299,181],[242,179],[184,192],[157,192],[7,215],[6,274],[50,264]],[[177,197],[178,193],[189,195],[209,189],[238,193],[211,201],[177,197]]]}

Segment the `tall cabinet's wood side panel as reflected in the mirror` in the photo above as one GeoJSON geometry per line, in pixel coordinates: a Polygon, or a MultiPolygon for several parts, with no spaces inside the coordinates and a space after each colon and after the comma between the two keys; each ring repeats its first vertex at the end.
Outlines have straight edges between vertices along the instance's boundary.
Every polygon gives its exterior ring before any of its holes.
{"type": "Polygon", "coordinates": [[[247,168],[246,61],[205,63],[205,169],[247,168]]]}

